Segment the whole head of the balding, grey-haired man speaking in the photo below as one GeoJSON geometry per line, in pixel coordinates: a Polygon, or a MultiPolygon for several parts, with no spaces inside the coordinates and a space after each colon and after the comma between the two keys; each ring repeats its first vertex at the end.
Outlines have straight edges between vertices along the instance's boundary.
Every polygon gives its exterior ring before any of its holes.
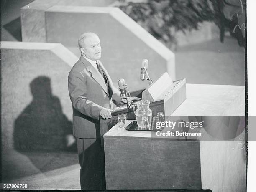
{"type": "Polygon", "coordinates": [[[84,33],[79,37],[78,47],[81,55],[92,61],[101,57],[100,38],[95,33],[84,33]]]}

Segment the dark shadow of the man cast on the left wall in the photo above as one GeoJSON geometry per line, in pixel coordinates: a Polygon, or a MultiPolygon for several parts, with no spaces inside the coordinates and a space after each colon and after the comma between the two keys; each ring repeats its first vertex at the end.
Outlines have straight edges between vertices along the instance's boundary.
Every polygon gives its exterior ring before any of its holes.
{"type": "Polygon", "coordinates": [[[72,122],[63,114],[59,98],[52,95],[50,78],[35,78],[30,89],[33,100],[15,120],[15,149],[24,152],[76,150],[75,142],[69,146],[72,122]]]}

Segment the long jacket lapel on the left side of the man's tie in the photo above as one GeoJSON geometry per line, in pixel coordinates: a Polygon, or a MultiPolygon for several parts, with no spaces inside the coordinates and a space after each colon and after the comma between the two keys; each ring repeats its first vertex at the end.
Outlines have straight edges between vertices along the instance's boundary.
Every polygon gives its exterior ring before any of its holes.
{"type": "MultiPolygon", "coordinates": [[[[106,86],[106,83],[104,81],[104,78],[100,75],[100,73],[98,73],[98,71],[96,71],[96,69],[91,65],[91,63],[89,63],[89,61],[87,61],[83,56],[80,57],[80,60],[82,61],[82,63],[84,64],[84,66],[86,67],[86,70],[88,72],[90,72],[92,78],[99,83],[99,85],[102,87],[102,89],[105,91],[105,93],[109,96],[108,93],[108,88],[106,86]]],[[[102,66],[102,65],[101,65],[102,66]]],[[[105,71],[104,71],[105,72],[105,71]]]]}

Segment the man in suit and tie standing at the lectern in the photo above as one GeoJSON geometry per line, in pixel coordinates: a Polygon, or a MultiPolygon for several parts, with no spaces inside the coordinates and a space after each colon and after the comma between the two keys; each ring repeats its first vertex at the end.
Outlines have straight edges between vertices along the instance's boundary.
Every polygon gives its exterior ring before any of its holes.
{"type": "Polygon", "coordinates": [[[105,189],[104,151],[100,145],[99,116],[111,117],[113,102],[121,101],[100,62],[100,39],[84,33],[78,40],[81,57],[68,77],[73,105],[73,134],[77,137],[81,189],[105,189]]]}

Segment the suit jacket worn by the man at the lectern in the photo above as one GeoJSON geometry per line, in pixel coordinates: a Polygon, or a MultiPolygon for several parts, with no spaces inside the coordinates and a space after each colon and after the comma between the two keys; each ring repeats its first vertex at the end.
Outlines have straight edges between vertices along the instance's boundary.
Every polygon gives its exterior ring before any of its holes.
{"type": "Polygon", "coordinates": [[[113,109],[113,100],[121,101],[108,72],[108,91],[104,78],[83,56],[74,64],[68,77],[69,96],[73,105],[73,134],[78,138],[100,139],[99,114],[103,107],[113,109]]]}

